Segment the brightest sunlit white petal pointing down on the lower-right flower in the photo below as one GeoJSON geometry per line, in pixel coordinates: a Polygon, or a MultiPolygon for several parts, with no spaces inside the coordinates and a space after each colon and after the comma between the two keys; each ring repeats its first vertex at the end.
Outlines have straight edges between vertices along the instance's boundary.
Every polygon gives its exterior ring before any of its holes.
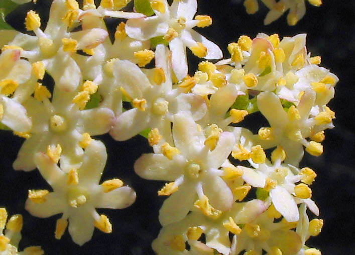
{"type": "Polygon", "coordinates": [[[276,186],[269,193],[275,209],[284,216],[288,222],[299,220],[298,207],[294,197],[283,187],[276,186]]]}

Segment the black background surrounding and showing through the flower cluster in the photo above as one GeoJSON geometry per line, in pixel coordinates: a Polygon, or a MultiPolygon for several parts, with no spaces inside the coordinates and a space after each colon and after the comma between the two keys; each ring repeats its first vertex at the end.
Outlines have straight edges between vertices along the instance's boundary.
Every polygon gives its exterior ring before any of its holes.
{"type": "MultiPolygon", "coordinates": [[[[41,13],[42,27],[48,19],[49,0],[38,0],[37,4],[26,4],[7,17],[7,21],[24,31],[24,18],[29,9],[41,13]],[[40,11],[41,10],[41,11],[40,11]],[[47,10],[47,11],[44,11],[47,10]]],[[[305,155],[301,167],[313,168],[318,177],[313,184],[313,199],[324,219],[322,233],[308,240],[308,246],[320,248],[324,255],[355,253],[354,206],[354,109],[355,89],[355,2],[324,0],[319,8],[306,4],[305,17],[295,26],[286,24],[284,15],[272,25],[264,26],[267,9],[260,4],[255,15],[247,15],[242,1],[200,1],[198,14],[213,18],[209,28],[198,29],[203,35],[220,45],[227,55],[226,46],[240,35],[255,37],[258,32],[278,33],[280,37],[307,33],[307,48],[312,56],[320,55],[322,64],[335,73],[340,81],[336,86],[335,98],[329,103],[336,112],[335,129],[326,131],[323,142],[325,152],[316,158],[305,155]]],[[[117,19],[105,19],[108,26],[115,28],[117,19]]],[[[190,54],[190,53],[189,53],[190,54]]],[[[191,70],[195,70],[196,58],[191,70]]],[[[192,72],[193,73],[193,72],[192,72]]],[[[257,130],[257,118],[248,116],[245,123],[257,130]]],[[[258,126],[259,125],[259,126],[258,126]]],[[[156,192],[164,182],[143,180],[133,172],[133,163],[142,153],[150,152],[146,140],[140,136],[126,142],[116,142],[110,136],[98,136],[108,151],[108,162],[103,179],[119,177],[137,193],[136,202],[123,210],[99,210],[106,214],[113,225],[112,234],[95,229],[90,242],[79,247],[71,241],[66,231],[62,240],[54,238],[55,222],[60,217],[36,218],[24,210],[28,189],[50,189],[37,170],[22,172],[12,170],[23,139],[9,131],[0,134],[0,182],[2,194],[0,206],[6,207],[9,215],[21,213],[24,216],[20,250],[30,245],[41,245],[46,254],[153,254],[150,243],[158,235],[158,210],[164,200],[156,192]]],[[[311,214],[310,214],[311,215],[311,214]]]]}

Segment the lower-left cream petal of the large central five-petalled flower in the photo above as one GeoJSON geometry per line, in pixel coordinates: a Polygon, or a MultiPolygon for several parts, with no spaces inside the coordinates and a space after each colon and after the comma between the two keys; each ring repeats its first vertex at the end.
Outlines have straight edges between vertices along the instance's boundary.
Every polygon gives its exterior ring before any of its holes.
{"type": "Polygon", "coordinates": [[[162,226],[178,222],[185,218],[192,209],[196,199],[196,192],[193,185],[183,183],[179,190],[170,195],[159,210],[159,222],[162,226]]]}

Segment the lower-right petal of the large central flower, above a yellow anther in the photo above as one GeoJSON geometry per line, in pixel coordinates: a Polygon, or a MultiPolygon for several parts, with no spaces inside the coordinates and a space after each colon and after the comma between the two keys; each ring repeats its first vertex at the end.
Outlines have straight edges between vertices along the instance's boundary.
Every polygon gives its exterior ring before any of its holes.
{"type": "Polygon", "coordinates": [[[203,192],[211,205],[221,211],[229,210],[234,202],[233,193],[219,176],[206,176],[203,179],[203,192]]]}

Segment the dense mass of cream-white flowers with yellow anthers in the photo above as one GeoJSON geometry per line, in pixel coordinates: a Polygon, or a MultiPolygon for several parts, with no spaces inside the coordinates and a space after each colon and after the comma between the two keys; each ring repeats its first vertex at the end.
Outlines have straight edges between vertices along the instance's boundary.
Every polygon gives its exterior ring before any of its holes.
{"type": "MultiPolygon", "coordinates": [[[[25,138],[13,168],[37,168],[52,187],[29,190],[26,210],[36,217],[61,214],[55,238],[68,228],[79,245],[95,227],[112,232],[96,208],[126,208],[136,193],[119,178],[101,180],[106,147],[92,136],[124,141],[141,134],[153,153],[141,155],[134,171],[167,182],[158,191],[167,198],[152,244],[157,254],[321,254],[305,244],[323,226],[311,199],[317,174],[299,164],[305,151],[323,153],[338,78],[307,52],[306,34],[243,35],[223,58],[194,30],[213,22],[196,15],[197,0],[134,1],[132,12],[121,11],[129,2],[54,0],[45,29],[41,14],[30,10],[31,35],[0,31],[6,38],[0,119],[25,138]],[[126,19],[113,43],[104,17],[126,19]],[[193,76],[187,49],[203,59],[193,76]],[[53,78],[53,90],[45,76],[53,78]],[[244,123],[255,112],[269,125],[253,134],[244,123]]],[[[290,25],[304,14],[304,1],[263,2],[271,9],[266,23],[288,9],[290,25]]],[[[257,10],[256,0],[245,6],[257,10]]],[[[13,217],[0,253],[17,252],[21,217],[13,217]]],[[[2,229],[5,222],[3,209],[2,229]]],[[[33,249],[23,254],[42,252],[33,249]]]]}

